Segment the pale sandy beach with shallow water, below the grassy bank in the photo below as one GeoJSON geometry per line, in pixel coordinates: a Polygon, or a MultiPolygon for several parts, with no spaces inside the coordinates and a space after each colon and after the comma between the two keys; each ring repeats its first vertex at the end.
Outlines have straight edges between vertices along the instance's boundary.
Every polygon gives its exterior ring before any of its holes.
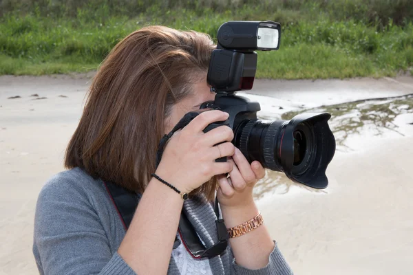
{"type": "MultiPolygon", "coordinates": [[[[0,76],[0,275],[38,274],[36,198],[63,169],[89,84],[89,76],[0,76]]],[[[295,274],[412,274],[413,78],[256,80],[242,94],[265,119],[333,114],[328,188],[268,172],[255,192],[295,274]]]]}

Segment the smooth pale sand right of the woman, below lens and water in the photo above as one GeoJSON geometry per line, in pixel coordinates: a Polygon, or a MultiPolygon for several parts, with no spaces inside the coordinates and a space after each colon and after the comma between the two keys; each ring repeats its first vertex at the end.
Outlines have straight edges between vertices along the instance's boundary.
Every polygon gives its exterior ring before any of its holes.
{"type": "Polygon", "coordinates": [[[324,192],[292,186],[260,201],[296,274],[411,274],[412,137],[338,153],[324,192]]]}

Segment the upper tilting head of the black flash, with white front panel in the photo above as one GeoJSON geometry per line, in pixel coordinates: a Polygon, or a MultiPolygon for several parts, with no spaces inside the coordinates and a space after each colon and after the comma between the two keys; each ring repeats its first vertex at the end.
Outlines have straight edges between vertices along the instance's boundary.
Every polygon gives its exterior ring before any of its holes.
{"type": "Polygon", "coordinates": [[[228,50],[279,49],[281,25],[274,21],[228,21],[218,29],[218,45],[228,50]]]}

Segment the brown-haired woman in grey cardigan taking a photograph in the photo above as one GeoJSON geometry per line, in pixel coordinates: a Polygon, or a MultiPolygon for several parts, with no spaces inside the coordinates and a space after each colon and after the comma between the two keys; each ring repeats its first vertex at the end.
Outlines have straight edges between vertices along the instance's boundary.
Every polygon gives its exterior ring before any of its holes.
{"type": "Polygon", "coordinates": [[[214,99],[207,85],[213,48],[206,34],[151,26],[110,52],[67,147],[68,170],[39,195],[33,252],[41,274],[292,274],[266,225],[257,223],[253,187],[264,168],[231,144],[229,127],[202,131],[228,113],[202,112],[171,137],[156,166],[161,137],[214,99]],[[220,157],[229,160],[215,162],[220,157]],[[107,182],[139,194],[128,230],[107,182]],[[222,254],[194,259],[177,235],[180,214],[211,247],[218,241],[215,194],[226,228],[251,219],[257,226],[232,235],[222,254]]]}

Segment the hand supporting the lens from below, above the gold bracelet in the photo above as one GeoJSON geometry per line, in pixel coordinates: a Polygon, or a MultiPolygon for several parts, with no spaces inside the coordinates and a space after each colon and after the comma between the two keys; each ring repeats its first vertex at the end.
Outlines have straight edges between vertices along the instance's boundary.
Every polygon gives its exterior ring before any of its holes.
{"type": "Polygon", "coordinates": [[[229,162],[234,164],[229,177],[218,176],[220,206],[232,208],[253,203],[253,188],[265,176],[264,168],[256,160],[249,164],[238,148],[235,148],[235,154],[229,162]]]}

